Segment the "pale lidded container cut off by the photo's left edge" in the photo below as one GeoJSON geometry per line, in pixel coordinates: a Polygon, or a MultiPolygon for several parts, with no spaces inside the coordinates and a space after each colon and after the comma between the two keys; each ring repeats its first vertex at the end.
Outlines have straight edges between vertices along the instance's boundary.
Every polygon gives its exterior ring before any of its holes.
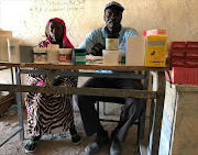
{"type": "Polygon", "coordinates": [[[12,37],[12,31],[0,31],[0,60],[8,62],[8,42],[12,37]]]}

